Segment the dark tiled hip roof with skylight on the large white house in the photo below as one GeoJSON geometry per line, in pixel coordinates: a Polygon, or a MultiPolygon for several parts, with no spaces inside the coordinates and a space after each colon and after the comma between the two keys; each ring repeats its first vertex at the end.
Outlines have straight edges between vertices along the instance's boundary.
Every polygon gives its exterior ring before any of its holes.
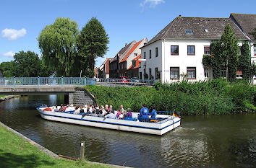
{"type": "Polygon", "coordinates": [[[248,40],[230,18],[176,17],[146,45],[161,39],[219,40],[228,24],[231,26],[236,38],[239,40],[248,40]],[[185,30],[192,30],[193,34],[187,35],[185,30]],[[205,32],[205,30],[208,30],[208,32],[205,32]]]}

